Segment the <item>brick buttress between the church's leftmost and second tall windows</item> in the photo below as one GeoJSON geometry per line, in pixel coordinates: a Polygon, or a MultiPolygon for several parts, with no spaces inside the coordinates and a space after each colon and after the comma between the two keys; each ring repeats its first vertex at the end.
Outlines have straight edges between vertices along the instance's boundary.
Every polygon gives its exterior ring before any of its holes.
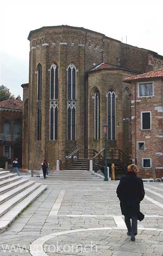
{"type": "Polygon", "coordinates": [[[42,106],[41,106],[41,149],[42,161],[47,158],[47,86],[48,86],[48,43],[42,44],[42,106]]]}

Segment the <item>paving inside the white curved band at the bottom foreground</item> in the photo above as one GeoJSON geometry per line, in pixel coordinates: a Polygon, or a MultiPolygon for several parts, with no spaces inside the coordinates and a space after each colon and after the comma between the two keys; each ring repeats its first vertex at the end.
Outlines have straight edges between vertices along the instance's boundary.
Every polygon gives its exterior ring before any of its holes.
{"type": "Polygon", "coordinates": [[[32,256],[52,255],[155,255],[163,254],[163,229],[139,228],[131,242],[124,228],[89,228],[61,231],[38,238],[30,246],[32,256]]]}

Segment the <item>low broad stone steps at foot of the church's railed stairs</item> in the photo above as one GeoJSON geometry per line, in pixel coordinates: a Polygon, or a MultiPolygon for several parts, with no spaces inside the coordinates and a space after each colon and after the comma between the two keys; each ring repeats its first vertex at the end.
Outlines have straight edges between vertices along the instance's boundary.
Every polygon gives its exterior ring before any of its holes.
{"type": "Polygon", "coordinates": [[[95,175],[91,175],[90,171],[85,170],[62,170],[55,171],[54,173],[50,173],[48,175],[48,179],[56,179],[56,180],[79,180],[79,181],[90,181],[97,180],[99,177],[95,177],[95,175]]]}

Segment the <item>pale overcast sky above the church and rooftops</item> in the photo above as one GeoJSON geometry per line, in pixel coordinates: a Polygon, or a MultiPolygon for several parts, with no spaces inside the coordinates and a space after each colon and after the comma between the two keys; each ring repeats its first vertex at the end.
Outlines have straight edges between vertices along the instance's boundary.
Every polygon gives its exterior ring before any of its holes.
{"type": "Polygon", "coordinates": [[[28,34],[42,26],[84,27],[123,42],[127,35],[128,44],[163,55],[162,0],[5,0],[0,6],[0,84],[16,96],[28,82],[28,34]]]}

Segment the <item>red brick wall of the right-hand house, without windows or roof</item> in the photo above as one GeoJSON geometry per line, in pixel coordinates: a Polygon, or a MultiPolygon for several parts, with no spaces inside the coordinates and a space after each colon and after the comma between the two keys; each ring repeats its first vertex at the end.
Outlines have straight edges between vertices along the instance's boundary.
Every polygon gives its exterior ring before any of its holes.
{"type": "MultiPolygon", "coordinates": [[[[141,81],[140,81],[141,82],[141,81]]],[[[152,168],[142,168],[142,158],[152,158],[152,163],[156,166],[157,178],[163,177],[163,138],[162,136],[162,111],[157,107],[162,107],[162,79],[153,81],[154,96],[138,97],[138,83],[132,83],[132,158],[137,159],[139,175],[143,178],[153,176],[152,168]],[[136,89],[136,90],[135,90],[136,89]],[[136,92],[136,93],[135,93],[136,92]],[[136,99],[136,104],[135,104],[136,99]],[[141,111],[151,111],[151,130],[141,130],[141,111]],[[135,118],[136,117],[136,118],[135,118]],[[136,123],[136,127],[135,127],[136,123]],[[145,150],[138,150],[138,141],[145,142],[145,150]],[[135,153],[136,144],[136,153],[135,153]],[[160,154],[158,154],[160,153],[160,154]]]]}

